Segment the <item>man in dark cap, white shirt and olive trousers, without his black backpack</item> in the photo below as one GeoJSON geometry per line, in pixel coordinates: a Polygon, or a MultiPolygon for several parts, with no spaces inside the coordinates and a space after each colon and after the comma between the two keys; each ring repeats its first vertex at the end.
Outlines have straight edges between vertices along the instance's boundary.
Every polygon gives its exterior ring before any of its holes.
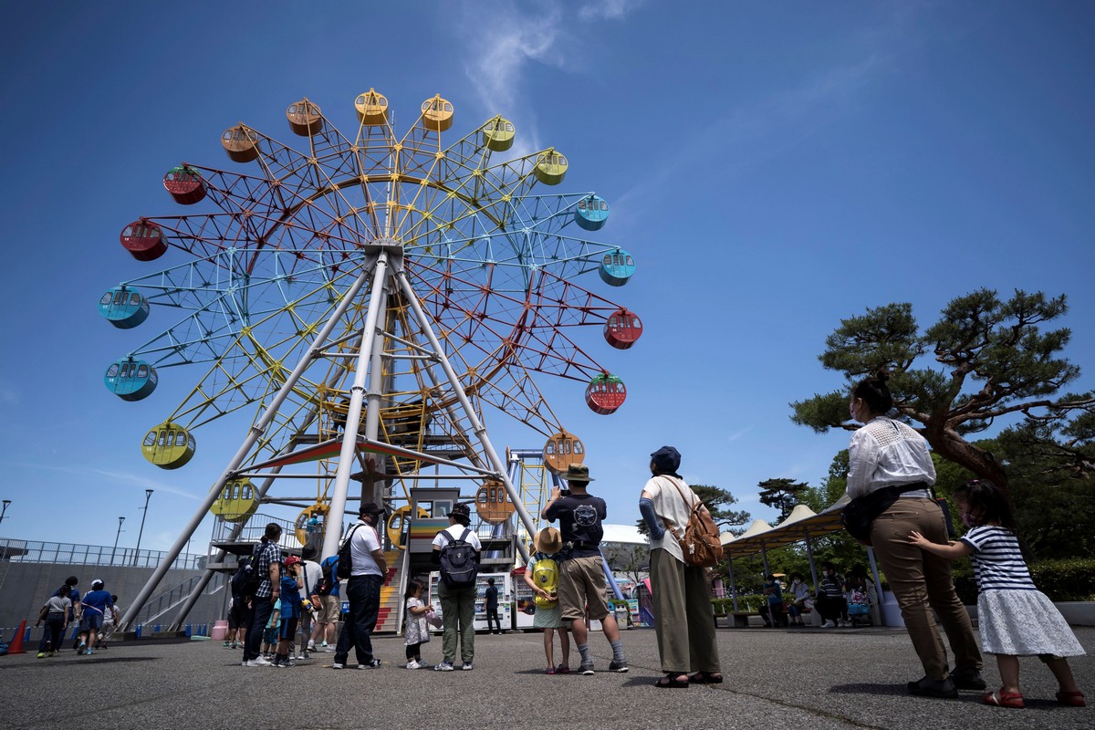
{"type": "MultiPolygon", "coordinates": [[[[461,540],[475,551],[475,560],[479,561],[480,552],[483,544],[480,543],[479,535],[469,529],[472,519],[472,511],[468,505],[457,503],[449,512],[449,526],[437,533],[434,537],[434,553],[430,556],[434,565],[441,565],[441,548],[454,540],[461,540]],[[466,534],[465,534],[466,533],[466,534]]],[[[441,634],[441,653],[443,656],[440,664],[434,669],[438,672],[451,672],[456,669],[457,661],[457,637],[460,637],[460,658],[463,660],[461,669],[470,671],[472,660],[475,658],[475,594],[474,584],[468,588],[450,588],[443,580],[437,583],[437,594],[441,599],[441,621],[443,622],[443,633],[441,634]]]]}

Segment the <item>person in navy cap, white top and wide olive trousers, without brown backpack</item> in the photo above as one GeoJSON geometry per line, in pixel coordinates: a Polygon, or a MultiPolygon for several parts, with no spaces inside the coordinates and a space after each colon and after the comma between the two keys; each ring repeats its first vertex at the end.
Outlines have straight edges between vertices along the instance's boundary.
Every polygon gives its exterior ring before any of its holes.
{"type": "Polygon", "coordinates": [[[638,511],[650,529],[654,631],[665,672],[655,686],[662,690],[723,683],[707,569],[684,563],[678,542],[693,507],[707,508],[677,473],[680,463],[680,452],[672,447],[650,454],[652,476],[638,499],[638,511]]]}

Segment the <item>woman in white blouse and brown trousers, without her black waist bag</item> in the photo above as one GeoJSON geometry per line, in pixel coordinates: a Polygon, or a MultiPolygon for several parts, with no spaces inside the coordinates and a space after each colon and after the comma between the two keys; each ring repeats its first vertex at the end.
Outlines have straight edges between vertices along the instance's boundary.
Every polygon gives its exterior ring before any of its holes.
{"type": "Polygon", "coordinates": [[[935,465],[927,443],[912,428],[886,416],[894,397],[881,371],[852,389],[849,413],[864,424],[849,445],[848,496],[862,497],[885,487],[903,491],[871,528],[871,544],[881,564],[924,677],[909,682],[909,692],[927,697],[957,697],[958,690],[983,690],[981,652],[966,607],[955,593],[950,563],[908,542],[915,531],[934,543],[947,542],[943,511],[932,499],[935,465]],[[955,670],[935,629],[938,615],[955,654],[955,670]]]}

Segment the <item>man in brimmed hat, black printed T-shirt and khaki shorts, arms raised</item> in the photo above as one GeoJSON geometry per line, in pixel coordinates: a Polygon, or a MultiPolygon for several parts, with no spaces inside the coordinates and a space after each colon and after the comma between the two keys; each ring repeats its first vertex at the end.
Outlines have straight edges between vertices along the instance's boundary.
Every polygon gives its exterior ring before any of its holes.
{"type": "Polygon", "coordinates": [[[586,491],[593,480],[589,476],[588,466],[572,464],[563,478],[566,479],[570,494],[564,496],[558,487],[552,489],[551,499],[544,506],[541,517],[549,522],[558,520],[560,531],[563,533],[563,555],[566,559],[560,564],[558,600],[563,609],[563,621],[570,623],[574,642],[581,654],[578,671],[587,675],[593,673],[585,619],[585,607],[588,605],[589,617],[601,622],[604,638],[612,646],[609,671],[626,672],[627,660],[620,641],[620,627],[604,600],[606,581],[601,558],[604,530],[601,522],[608,517],[608,507],[603,499],[586,491]]]}

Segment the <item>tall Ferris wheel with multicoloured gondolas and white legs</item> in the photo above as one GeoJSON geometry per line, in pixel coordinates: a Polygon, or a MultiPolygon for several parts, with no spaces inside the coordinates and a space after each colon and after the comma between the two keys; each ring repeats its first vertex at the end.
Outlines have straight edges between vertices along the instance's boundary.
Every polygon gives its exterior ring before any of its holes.
{"type": "Polygon", "coordinates": [[[287,120],[307,140],[303,151],[242,123],[231,127],[221,144],[246,173],[173,167],[166,192],[198,212],[141,217],[122,231],[135,258],[165,257],[170,266],[100,300],[119,329],[160,328],[108,366],[106,387],[138,401],[169,368],[206,368],[148,430],[145,457],[180,468],[199,448],[203,426],[252,414],[126,625],[211,508],[233,528],[215,543],[175,624],[217,570],[232,568],[228,554],[250,553],[254,543],[240,536],[262,503],[300,509],[295,537],[328,556],[347,501],[382,503],[389,532],[400,536],[416,519],[439,517],[418,511],[413,489],[471,483],[479,517],[527,557],[539,517],[530,508],[542,503],[544,480],[539,491],[531,480],[526,489],[523,473],[507,470],[484,410],[541,433],[543,468],[557,473],[580,463],[585,447],[534,378],[585,383],[598,414],[626,398],[623,380],[579,338],[600,326],[603,343],[624,350],[642,322],[575,281],[597,271],[601,283],[623,286],[635,258],[589,240],[609,218],[604,198],[540,193],[563,182],[566,157],[548,148],[500,159],[516,135],[500,116],[452,139],[453,105],[439,95],[423,102],[402,137],[382,94],[369,90],[354,107],[356,134],[347,137],[310,100],[291,104],[287,120]],[[314,485],[314,496],[275,488],[283,480],[314,485]],[[357,496],[351,480],[361,485],[357,496]]]}

